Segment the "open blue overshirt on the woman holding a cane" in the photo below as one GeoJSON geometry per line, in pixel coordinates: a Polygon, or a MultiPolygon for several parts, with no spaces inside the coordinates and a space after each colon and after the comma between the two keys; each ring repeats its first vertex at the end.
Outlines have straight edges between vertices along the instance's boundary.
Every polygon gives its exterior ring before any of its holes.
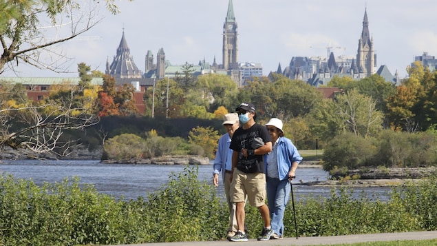
{"type": "MultiPolygon", "coordinates": [[[[273,150],[275,150],[275,148],[273,150]]],[[[297,151],[296,146],[285,136],[279,137],[276,150],[279,180],[282,181],[288,178],[288,172],[290,172],[292,163],[295,161],[301,163],[303,158],[297,151]]],[[[264,164],[266,165],[267,173],[267,158],[264,158],[264,164]]]]}

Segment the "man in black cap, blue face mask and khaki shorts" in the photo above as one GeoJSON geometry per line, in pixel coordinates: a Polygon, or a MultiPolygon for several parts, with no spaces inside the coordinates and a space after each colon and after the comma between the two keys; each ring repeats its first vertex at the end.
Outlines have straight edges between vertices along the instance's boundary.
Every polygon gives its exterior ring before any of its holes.
{"type": "Polygon", "coordinates": [[[228,238],[234,242],[247,241],[244,232],[244,201],[247,196],[249,204],[259,209],[264,227],[258,240],[269,240],[273,231],[270,227],[270,212],[266,200],[266,170],[264,154],[272,151],[272,140],[264,125],[255,123],[255,106],[242,103],[236,109],[242,127],[233,134],[229,148],[232,154],[231,202],[236,204],[238,231],[228,238]],[[264,145],[254,146],[254,139],[262,139],[264,145]]]}

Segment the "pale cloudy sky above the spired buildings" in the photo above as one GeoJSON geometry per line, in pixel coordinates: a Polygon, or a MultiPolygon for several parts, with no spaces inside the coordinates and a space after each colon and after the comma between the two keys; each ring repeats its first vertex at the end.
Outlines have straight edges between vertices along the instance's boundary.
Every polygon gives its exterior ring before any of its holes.
{"type": "MultiPolygon", "coordinates": [[[[87,1],[85,1],[87,2],[87,1]]],[[[100,1],[102,2],[102,1],[100,1]]],[[[78,76],[77,63],[105,72],[125,32],[134,62],[145,70],[145,55],[163,48],[173,65],[222,63],[222,32],[228,0],[116,0],[120,13],[101,11],[103,21],[81,39],[63,43],[72,57],[70,74],[19,65],[1,76],[78,76]]],[[[404,78],[414,57],[437,56],[437,1],[430,0],[233,0],[238,25],[238,61],[262,63],[264,75],[282,70],[292,57],[356,57],[367,10],[376,70],[387,65],[404,78]],[[331,47],[328,49],[327,47],[331,47]]]]}

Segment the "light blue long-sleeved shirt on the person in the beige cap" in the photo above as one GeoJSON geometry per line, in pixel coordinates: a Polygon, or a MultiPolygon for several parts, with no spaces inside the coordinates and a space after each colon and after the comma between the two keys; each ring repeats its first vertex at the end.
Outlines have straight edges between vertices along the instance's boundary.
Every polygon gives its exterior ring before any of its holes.
{"type": "Polygon", "coordinates": [[[217,146],[217,153],[215,153],[214,159],[214,172],[213,174],[219,174],[222,172],[222,177],[224,178],[224,171],[232,170],[232,153],[233,150],[229,148],[231,145],[231,136],[226,132],[223,134],[217,146]]]}

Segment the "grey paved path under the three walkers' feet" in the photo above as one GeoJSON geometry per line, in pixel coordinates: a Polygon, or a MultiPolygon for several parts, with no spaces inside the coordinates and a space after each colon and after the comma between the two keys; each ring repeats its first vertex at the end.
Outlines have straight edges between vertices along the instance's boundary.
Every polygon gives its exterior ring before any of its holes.
{"type": "MultiPolygon", "coordinates": [[[[284,238],[282,240],[257,241],[256,238],[250,238],[248,242],[229,242],[222,241],[207,241],[207,242],[174,242],[174,243],[140,243],[129,246],[223,246],[223,245],[334,245],[341,243],[364,243],[376,241],[391,241],[391,240],[425,240],[437,239],[437,231],[431,232],[401,232],[401,233],[381,233],[381,234],[360,234],[348,236],[317,236],[303,238],[284,238]]],[[[437,241],[436,241],[437,245],[437,241]]],[[[127,245],[125,245],[127,246],[127,245]]]]}

